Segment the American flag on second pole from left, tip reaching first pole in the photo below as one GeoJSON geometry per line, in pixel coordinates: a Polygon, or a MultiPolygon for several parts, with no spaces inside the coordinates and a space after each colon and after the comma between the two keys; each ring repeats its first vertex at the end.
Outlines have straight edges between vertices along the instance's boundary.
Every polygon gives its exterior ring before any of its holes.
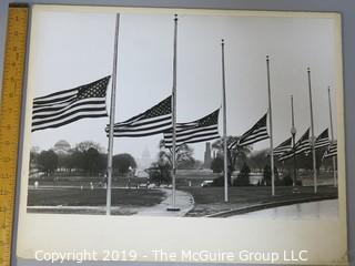
{"type": "MultiPolygon", "coordinates": [[[[124,122],[114,124],[113,136],[115,137],[141,137],[149,136],[171,129],[171,96],[155,104],[145,112],[138,114],[124,122]]],[[[109,134],[109,125],[105,127],[109,134]]]]}

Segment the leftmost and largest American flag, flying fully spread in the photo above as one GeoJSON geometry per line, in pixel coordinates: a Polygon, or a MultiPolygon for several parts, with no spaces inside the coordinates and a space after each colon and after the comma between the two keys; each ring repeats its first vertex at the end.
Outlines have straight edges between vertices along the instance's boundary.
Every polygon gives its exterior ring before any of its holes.
{"type": "Polygon", "coordinates": [[[59,127],[77,120],[106,116],[106,89],[110,75],[71,90],[36,98],[32,132],[59,127]]]}

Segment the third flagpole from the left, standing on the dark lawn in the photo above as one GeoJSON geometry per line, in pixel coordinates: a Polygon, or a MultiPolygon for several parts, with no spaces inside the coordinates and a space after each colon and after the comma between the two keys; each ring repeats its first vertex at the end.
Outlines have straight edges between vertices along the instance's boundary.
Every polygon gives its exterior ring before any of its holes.
{"type": "Polygon", "coordinates": [[[224,157],[224,202],[229,202],[229,165],[226,146],[226,100],[225,100],[225,69],[224,40],[222,39],[222,98],[223,98],[223,157],[224,157]]]}

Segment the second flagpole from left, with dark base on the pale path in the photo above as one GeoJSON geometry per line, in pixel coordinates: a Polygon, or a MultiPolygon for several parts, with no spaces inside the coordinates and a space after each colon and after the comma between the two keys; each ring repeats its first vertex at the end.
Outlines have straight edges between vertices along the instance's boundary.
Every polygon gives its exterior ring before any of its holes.
{"type": "Polygon", "coordinates": [[[173,145],[172,145],[172,206],[168,207],[168,211],[180,211],[176,207],[175,194],[176,194],[176,68],[178,68],[178,14],[174,18],[174,58],[173,58],[173,110],[172,110],[172,120],[173,120],[173,145]]]}

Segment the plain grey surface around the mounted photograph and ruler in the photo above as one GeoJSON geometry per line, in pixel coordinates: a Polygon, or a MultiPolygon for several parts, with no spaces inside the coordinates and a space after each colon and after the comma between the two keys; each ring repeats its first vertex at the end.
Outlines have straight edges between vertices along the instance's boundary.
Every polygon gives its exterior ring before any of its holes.
{"type": "MultiPolygon", "coordinates": [[[[0,80],[2,81],[4,35],[9,0],[0,0],[0,80]]],[[[202,8],[202,9],[242,9],[280,11],[332,11],[342,13],[343,23],[343,68],[344,68],[344,108],[345,108],[345,147],[348,250],[351,265],[355,265],[355,1],[354,0],[18,0],[23,3],[98,4],[126,7],[162,8],[202,8]]],[[[2,84],[1,84],[2,85],[2,84]]],[[[143,263],[108,263],[104,265],[142,265],[143,263]]],[[[45,265],[39,262],[19,260],[17,265],[45,265]]],[[[64,265],[64,264],[55,264],[64,265]]],[[[67,265],[78,265],[71,263],[67,265]]],[[[102,263],[82,265],[103,265],[102,263]]],[[[144,263],[143,265],[156,265],[144,263]]],[[[170,264],[184,265],[184,264],[170,264]]],[[[189,264],[202,265],[202,264],[189,264]]],[[[209,264],[217,265],[217,264],[209,264]]]]}

